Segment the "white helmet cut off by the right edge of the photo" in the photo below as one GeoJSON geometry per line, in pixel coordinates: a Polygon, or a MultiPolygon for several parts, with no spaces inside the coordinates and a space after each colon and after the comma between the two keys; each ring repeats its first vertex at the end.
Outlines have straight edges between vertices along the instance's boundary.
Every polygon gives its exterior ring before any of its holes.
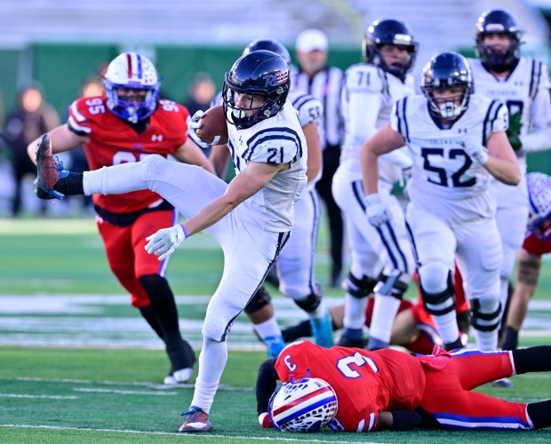
{"type": "Polygon", "coordinates": [[[542,223],[551,218],[551,178],[542,172],[526,175],[528,186],[528,229],[539,238],[551,241],[551,229],[542,223]]]}

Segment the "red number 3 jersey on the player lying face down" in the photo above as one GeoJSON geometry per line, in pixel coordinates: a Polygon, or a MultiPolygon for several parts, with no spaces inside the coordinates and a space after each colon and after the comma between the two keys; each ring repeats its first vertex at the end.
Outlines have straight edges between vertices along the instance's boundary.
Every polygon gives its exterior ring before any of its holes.
{"type": "Polygon", "coordinates": [[[360,348],[323,348],[308,341],[288,345],[275,361],[283,382],[319,377],[337,393],[339,408],[333,424],[347,432],[377,428],[379,411],[411,410],[425,390],[420,362],[391,349],[367,352],[360,348]]]}

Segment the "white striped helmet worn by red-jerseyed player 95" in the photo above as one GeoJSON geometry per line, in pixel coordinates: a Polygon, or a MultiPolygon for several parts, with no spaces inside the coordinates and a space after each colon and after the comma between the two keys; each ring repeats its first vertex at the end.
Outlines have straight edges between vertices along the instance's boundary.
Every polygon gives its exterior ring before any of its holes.
{"type": "Polygon", "coordinates": [[[132,123],[147,119],[156,110],[160,83],[156,68],[147,57],[137,52],[123,52],[109,63],[103,86],[108,96],[108,108],[120,118],[132,123]],[[148,91],[143,101],[125,100],[117,88],[148,91]]]}

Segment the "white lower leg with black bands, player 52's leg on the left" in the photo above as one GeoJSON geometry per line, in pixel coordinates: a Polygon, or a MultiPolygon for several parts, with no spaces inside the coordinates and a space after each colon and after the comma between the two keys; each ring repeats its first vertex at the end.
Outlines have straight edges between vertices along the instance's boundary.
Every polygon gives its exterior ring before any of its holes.
{"type": "Polygon", "coordinates": [[[463,347],[456,320],[451,270],[439,262],[423,265],[419,268],[419,284],[425,310],[433,316],[444,348],[463,347]]]}

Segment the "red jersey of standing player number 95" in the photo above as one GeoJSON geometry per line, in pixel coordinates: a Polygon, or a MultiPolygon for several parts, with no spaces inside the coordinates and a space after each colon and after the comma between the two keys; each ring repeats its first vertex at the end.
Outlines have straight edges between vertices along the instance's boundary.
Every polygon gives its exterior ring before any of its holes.
{"type": "MultiPolygon", "coordinates": [[[[147,155],[172,155],[188,139],[188,109],[170,100],[160,100],[141,134],[109,111],[106,97],[75,100],[69,107],[71,130],[90,140],[84,152],[90,170],[119,163],[139,162],[147,155]]],[[[149,190],[126,194],[94,194],[93,202],[114,213],[130,213],[147,208],[161,199],[149,190]]]]}

